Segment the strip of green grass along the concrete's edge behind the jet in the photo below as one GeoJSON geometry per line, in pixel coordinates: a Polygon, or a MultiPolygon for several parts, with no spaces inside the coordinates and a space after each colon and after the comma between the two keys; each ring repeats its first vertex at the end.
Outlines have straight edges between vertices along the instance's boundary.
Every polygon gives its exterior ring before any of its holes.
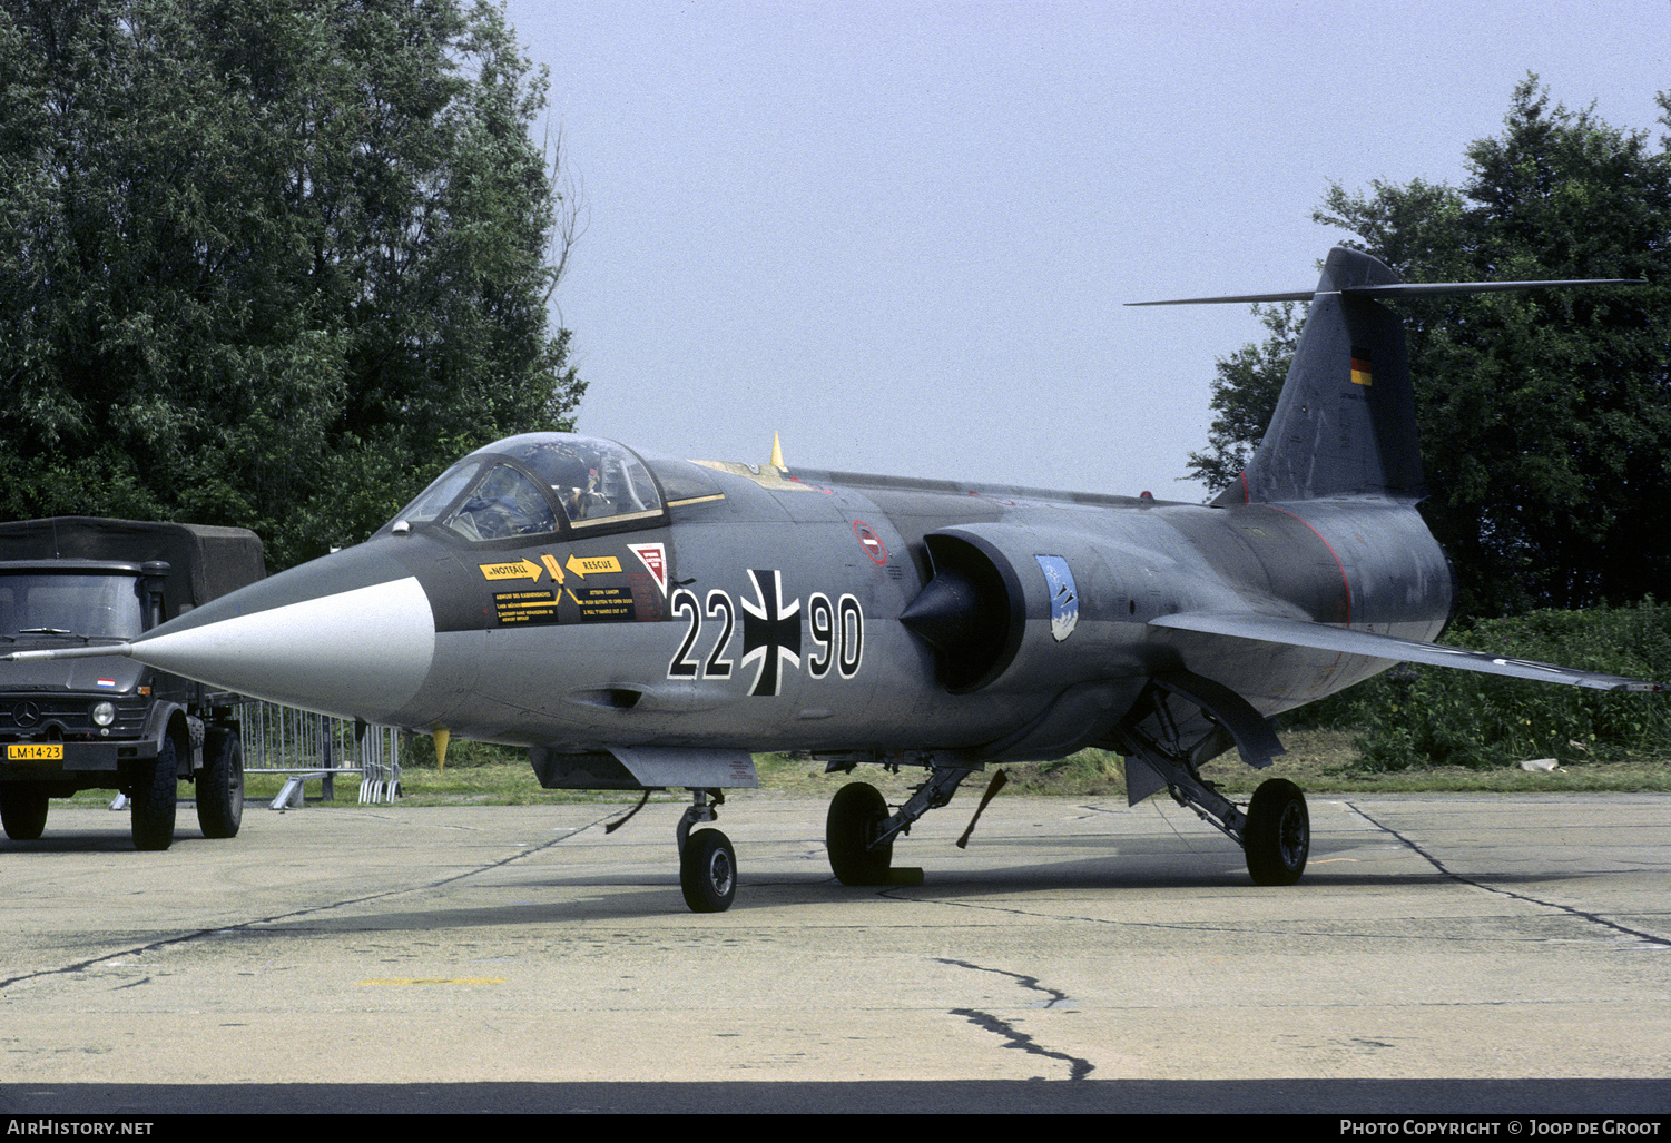
{"type": "MultiPolygon", "coordinates": [[[[1310,794],[1429,794],[1429,792],[1671,792],[1671,762],[1626,760],[1567,764],[1554,772],[1521,770],[1470,770],[1462,767],[1435,767],[1400,770],[1394,774],[1354,772],[1357,750],[1354,735],[1345,730],[1287,730],[1283,742],[1288,752],[1268,770],[1252,770],[1227,754],[1203,769],[1203,775],[1216,782],[1233,797],[1247,797],[1268,777],[1285,777],[1310,794]]],[[[734,790],[729,797],[815,797],[827,799],[851,780],[841,774],[824,774],[824,767],[810,759],[762,754],[755,759],[760,774],[759,790],[734,790]]],[[[1044,797],[1125,797],[1125,772],[1120,755],[1103,750],[1081,750],[1059,762],[1006,764],[1009,790],[1044,797]]],[[[887,774],[881,767],[861,767],[852,777],[862,777],[877,785],[889,800],[901,800],[921,780],[922,772],[906,769],[887,774]]],[[[282,777],[271,774],[247,775],[246,795],[254,802],[267,802],[277,795],[282,777]]],[[[964,797],[984,789],[984,780],[971,779],[964,797]]],[[[307,787],[309,800],[319,797],[319,784],[307,787]]],[[[399,805],[543,805],[553,802],[623,804],[637,800],[635,794],[620,790],[545,790],[535,780],[533,770],[520,750],[476,749],[449,755],[446,769],[438,770],[433,755],[419,755],[416,764],[403,769],[403,797],[399,805]]],[[[184,790],[182,790],[184,794],[184,790]]],[[[89,797],[89,795],[82,795],[89,797]]],[[[109,795],[104,795],[109,797],[109,795]]],[[[683,790],[655,794],[657,800],[682,802],[683,790]]],[[[338,805],[359,802],[359,782],[344,777],[336,782],[338,805]]]]}

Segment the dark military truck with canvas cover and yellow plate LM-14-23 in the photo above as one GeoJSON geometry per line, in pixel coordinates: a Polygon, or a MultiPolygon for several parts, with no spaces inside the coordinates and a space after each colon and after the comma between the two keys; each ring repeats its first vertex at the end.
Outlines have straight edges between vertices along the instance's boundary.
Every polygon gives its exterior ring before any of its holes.
{"type": "MultiPolygon", "coordinates": [[[[0,523],[0,647],[122,643],[266,575],[244,528],[53,516],[0,523]]],[[[236,695],[122,655],[0,662],[0,826],[33,841],[53,797],[127,795],[139,849],[174,842],[179,782],[206,837],[244,815],[236,695]]]]}

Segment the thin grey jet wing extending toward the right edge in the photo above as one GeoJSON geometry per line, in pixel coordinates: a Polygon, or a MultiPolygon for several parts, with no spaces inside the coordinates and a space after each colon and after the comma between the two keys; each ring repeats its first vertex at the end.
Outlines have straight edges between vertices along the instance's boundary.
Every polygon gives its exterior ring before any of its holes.
{"type": "Polygon", "coordinates": [[[1489,652],[1444,647],[1440,643],[1420,643],[1414,638],[1375,635],[1374,632],[1359,632],[1348,627],[1307,623],[1303,620],[1282,618],[1280,615],[1258,615],[1253,612],[1181,612],[1178,615],[1161,615],[1153,618],[1150,620],[1150,627],[1170,627],[1180,632],[1252,638],[1262,643],[1285,643],[1288,647],[1315,647],[1317,650],[1332,650],[1343,655],[1392,658],[1405,663],[1424,663],[1427,667],[1454,667],[1457,670],[1475,670],[1486,675],[1536,678],[1539,682],[1589,687],[1592,690],[1666,690],[1664,683],[1643,682],[1639,678],[1604,675],[1594,670],[1574,670],[1571,667],[1554,667],[1551,663],[1534,663],[1527,658],[1506,658],[1489,652]]]}

